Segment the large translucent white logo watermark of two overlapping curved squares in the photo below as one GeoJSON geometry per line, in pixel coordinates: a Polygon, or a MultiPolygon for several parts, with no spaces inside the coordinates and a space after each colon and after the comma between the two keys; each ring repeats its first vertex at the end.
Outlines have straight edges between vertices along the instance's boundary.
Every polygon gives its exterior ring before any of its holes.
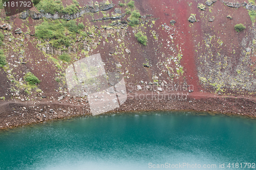
{"type": "Polygon", "coordinates": [[[71,95],[87,96],[93,115],[118,108],[127,100],[123,76],[118,72],[106,74],[100,54],[69,65],[66,80],[71,95]]]}

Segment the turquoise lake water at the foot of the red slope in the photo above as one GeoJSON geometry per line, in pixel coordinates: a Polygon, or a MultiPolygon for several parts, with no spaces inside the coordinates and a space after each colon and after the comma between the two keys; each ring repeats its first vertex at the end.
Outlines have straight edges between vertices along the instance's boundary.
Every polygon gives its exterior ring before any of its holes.
{"type": "Polygon", "coordinates": [[[255,169],[235,168],[253,162],[256,120],[245,117],[141,112],[0,131],[0,169],[255,169]],[[172,168],[179,163],[194,168],[172,168]]]}

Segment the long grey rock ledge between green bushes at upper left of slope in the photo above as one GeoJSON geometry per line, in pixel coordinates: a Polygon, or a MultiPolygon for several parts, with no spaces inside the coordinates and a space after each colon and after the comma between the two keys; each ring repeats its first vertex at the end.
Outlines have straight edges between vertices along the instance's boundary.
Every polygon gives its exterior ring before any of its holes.
{"type": "Polygon", "coordinates": [[[21,19],[26,19],[29,16],[31,16],[32,19],[40,19],[40,18],[48,18],[48,19],[65,19],[65,20],[71,20],[71,19],[75,19],[78,17],[81,17],[82,14],[84,13],[95,13],[98,11],[106,11],[109,9],[112,9],[115,6],[115,4],[110,3],[110,4],[106,4],[106,3],[100,3],[100,5],[95,5],[95,6],[86,6],[80,9],[79,12],[77,13],[73,13],[73,14],[68,14],[68,13],[55,13],[55,14],[51,14],[51,13],[44,13],[43,11],[40,13],[36,13],[34,11],[30,11],[30,10],[26,10],[22,13],[20,13],[19,18],[21,19]]]}

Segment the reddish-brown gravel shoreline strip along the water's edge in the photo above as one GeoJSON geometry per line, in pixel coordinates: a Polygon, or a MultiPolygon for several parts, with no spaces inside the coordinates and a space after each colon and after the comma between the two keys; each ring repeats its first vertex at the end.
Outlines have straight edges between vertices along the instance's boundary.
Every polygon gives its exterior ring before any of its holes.
{"type": "MultiPolygon", "coordinates": [[[[230,115],[241,115],[256,118],[256,99],[241,96],[221,96],[221,95],[200,95],[189,94],[185,100],[137,100],[139,94],[128,95],[126,102],[119,108],[105,112],[131,111],[206,111],[230,115]],[[133,97],[133,98],[132,98],[133,97]]],[[[140,94],[142,94],[140,92],[140,94]]],[[[77,100],[79,100],[77,98],[77,100]]],[[[85,104],[72,105],[60,103],[60,101],[45,100],[40,103],[24,102],[1,102],[0,109],[0,129],[29,125],[33,123],[45,122],[52,119],[62,119],[84,115],[92,115],[88,101],[85,104]],[[8,112],[9,111],[9,112],[8,112]],[[11,113],[10,113],[11,112],[11,113]]],[[[103,113],[103,114],[105,114],[103,113]]]]}

